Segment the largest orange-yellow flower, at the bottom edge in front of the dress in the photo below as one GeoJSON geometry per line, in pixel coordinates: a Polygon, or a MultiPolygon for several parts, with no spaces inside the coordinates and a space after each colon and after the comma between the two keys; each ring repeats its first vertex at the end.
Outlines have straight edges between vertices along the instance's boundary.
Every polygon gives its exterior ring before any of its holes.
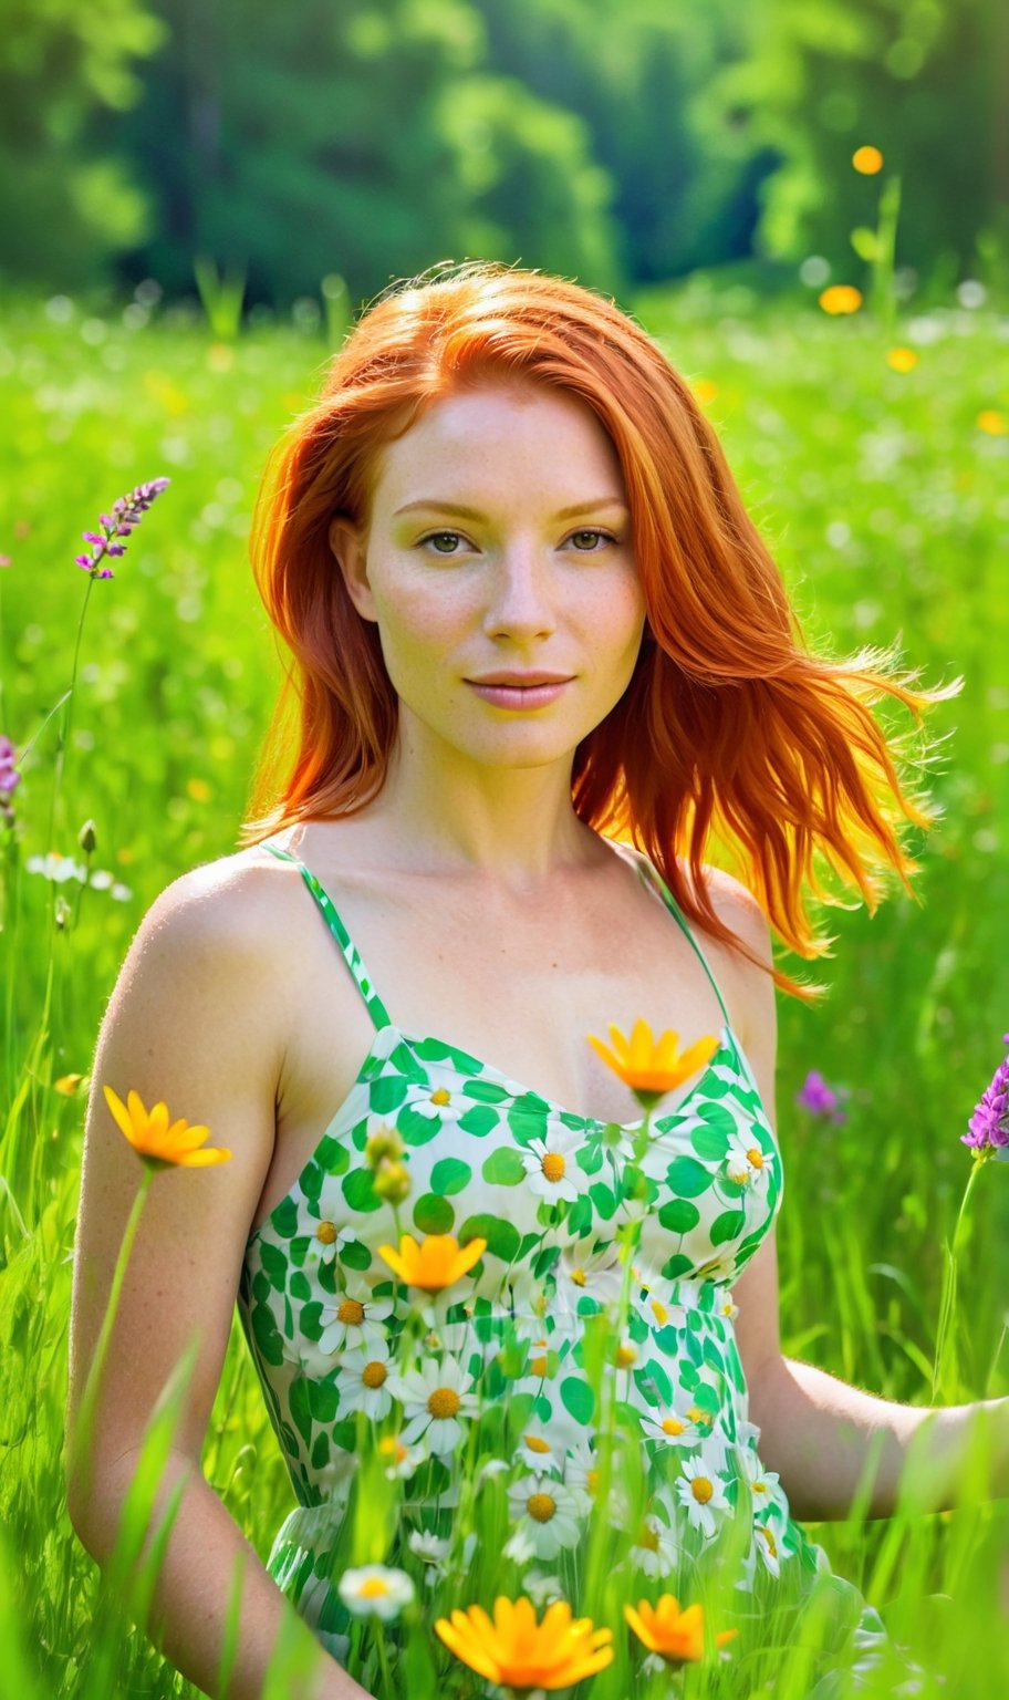
{"type": "Polygon", "coordinates": [[[494,1622],[482,1606],[440,1617],[435,1632],[471,1669],[503,1688],[571,1688],[613,1659],[612,1629],[571,1617],[567,1600],[547,1606],[537,1624],[532,1600],[494,1600],[494,1622]]]}

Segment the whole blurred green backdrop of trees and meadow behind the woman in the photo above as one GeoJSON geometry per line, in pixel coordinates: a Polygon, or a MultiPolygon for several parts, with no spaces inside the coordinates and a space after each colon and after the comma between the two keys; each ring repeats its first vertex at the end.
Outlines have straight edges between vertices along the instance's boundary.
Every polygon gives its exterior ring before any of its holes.
{"type": "MultiPolygon", "coordinates": [[[[88,1069],[144,910],[246,814],[280,680],[246,559],[267,452],[375,294],[467,257],[578,277],[659,338],[814,646],[897,641],[927,683],[963,680],[910,770],[941,809],[916,896],[826,911],[826,996],[781,1003],[785,1346],[931,1396],[960,1134],[1009,1032],[1009,8],[0,0],[20,774],[0,797],[0,1659],[29,1697],[194,1693],[102,1601],[63,1504],[88,1069]],[[88,581],[82,530],[155,476],[116,578],[88,581]],[[836,1112],[797,1103],[810,1069],[836,1112]]],[[[1009,1391],[1006,1244],[992,1164],[961,1248],[965,1399],[1009,1391]]],[[[204,1464],[265,1554],[290,1489],[238,1338],[204,1464]]],[[[995,1506],[817,1538],[946,1693],[989,1700],[1006,1533],[995,1506]]]]}

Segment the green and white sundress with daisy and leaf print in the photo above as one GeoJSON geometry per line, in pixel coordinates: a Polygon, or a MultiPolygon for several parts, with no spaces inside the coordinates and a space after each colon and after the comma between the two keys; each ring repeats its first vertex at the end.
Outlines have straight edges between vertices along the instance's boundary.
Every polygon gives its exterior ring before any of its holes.
{"type": "MultiPolygon", "coordinates": [[[[613,845],[696,952],[724,1025],[686,1096],[651,1122],[639,1154],[647,1182],[640,1204],[640,1182],[635,1197],[622,1183],[640,1122],[574,1115],[443,1039],[404,1034],[319,881],[275,845],[262,848],[301,870],[375,1027],[358,1076],[302,1173],[250,1234],[238,1294],[297,1499],[268,1571],[306,1622],[345,1663],[348,1615],[333,1554],[357,1467],[357,1413],[387,1413],[391,1396],[379,1389],[403,1326],[396,1297],[403,1289],[379,1256],[379,1246],[397,1243],[396,1221],[365,1161],[369,1137],[384,1129],[399,1134],[411,1178],[403,1231],[418,1239],[452,1234],[460,1244],[486,1239],[486,1251],[454,1284],[452,1304],[435,1319],[442,1353],[464,1377],[457,1386],[471,1389],[462,1416],[472,1411],[474,1394],[481,1404],[503,1396],[503,1331],[527,1343],[506,1391],[528,1413],[527,1479],[530,1486],[549,1481],[559,1504],[555,1535],[535,1527],[537,1557],[552,1556],[552,1538],[561,1545],[571,1538],[566,1518],[591,1470],[595,1413],[583,1334],[615,1297],[615,1236],[637,1210],[629,1340],[615,1374],[623,1409],[640,1418],[644,1469],[659,1501],[642,1562],[661,1583],[678,1544],[703,1547],[736,1513],[742,1482],[753,1522],[741,1586],[756,1591],[790,1579],[792,1593],[802,1595],[807,1579],[829,1574],[826,1554],[790,1516],[778,1477],[761,1464],[736,1346],[732,1287],[775,1222],[781,1151],[719,984],[657,870],[644,855],[613,845]],[[537,1476],[544,1460],[549,1477],[537,1476]],[[666,1488],[673,1476],[674,1488],[666,1488]]],[[[606,1018],[601,1010],[600,1032],[606,1018]]],[[[428,1416],[430,1457],[406,1488],[404,1542],[431,1506],[450,1513],[457,1503],[464,1448],[442,1443],[438,1450],[435,1428],[428,1416]]],[[[404,1435],[423,1442],[416,1431],[414,1420],[404,1435]]],[[[396,1564],[396,1554],[387,1562],[396,1564]]],[[[839,1578],[832,1584],[843,1630],[837,1647],[849,1666],[868,1673],[888,1646],[882,1620],[851,1584],[839,1578]]],[[[832,1693],[831,1683],[827,1664],[810,1693],[832,1693]]]]}

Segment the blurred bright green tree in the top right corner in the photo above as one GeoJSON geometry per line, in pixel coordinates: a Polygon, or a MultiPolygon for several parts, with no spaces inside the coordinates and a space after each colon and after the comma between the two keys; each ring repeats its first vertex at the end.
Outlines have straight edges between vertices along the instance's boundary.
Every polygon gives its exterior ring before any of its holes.
{"type": "Polygon", "coordinates": [[[880,178],[851,156],[870,143],[902,180],[897,262],[946,286],[970,269],[978,233],[1009,216],[1006,0],[751,0],[741,29],[744,51],[708,97],[781,160],[761,187],[758,246],[817,252],[856,280],[851,231],[875,223],[880,178]]]}

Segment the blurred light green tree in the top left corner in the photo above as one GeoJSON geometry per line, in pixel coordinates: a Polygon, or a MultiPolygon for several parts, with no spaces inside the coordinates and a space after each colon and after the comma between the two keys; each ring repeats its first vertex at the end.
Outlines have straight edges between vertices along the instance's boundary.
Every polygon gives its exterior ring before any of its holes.
{"type": "Polygon", "coordinates": [[[2,275],[99,284],[143,238],[146,196],[95,119],[139,99],[134,61],[163,34],[139,0],[2,0],[2,275]]]}

